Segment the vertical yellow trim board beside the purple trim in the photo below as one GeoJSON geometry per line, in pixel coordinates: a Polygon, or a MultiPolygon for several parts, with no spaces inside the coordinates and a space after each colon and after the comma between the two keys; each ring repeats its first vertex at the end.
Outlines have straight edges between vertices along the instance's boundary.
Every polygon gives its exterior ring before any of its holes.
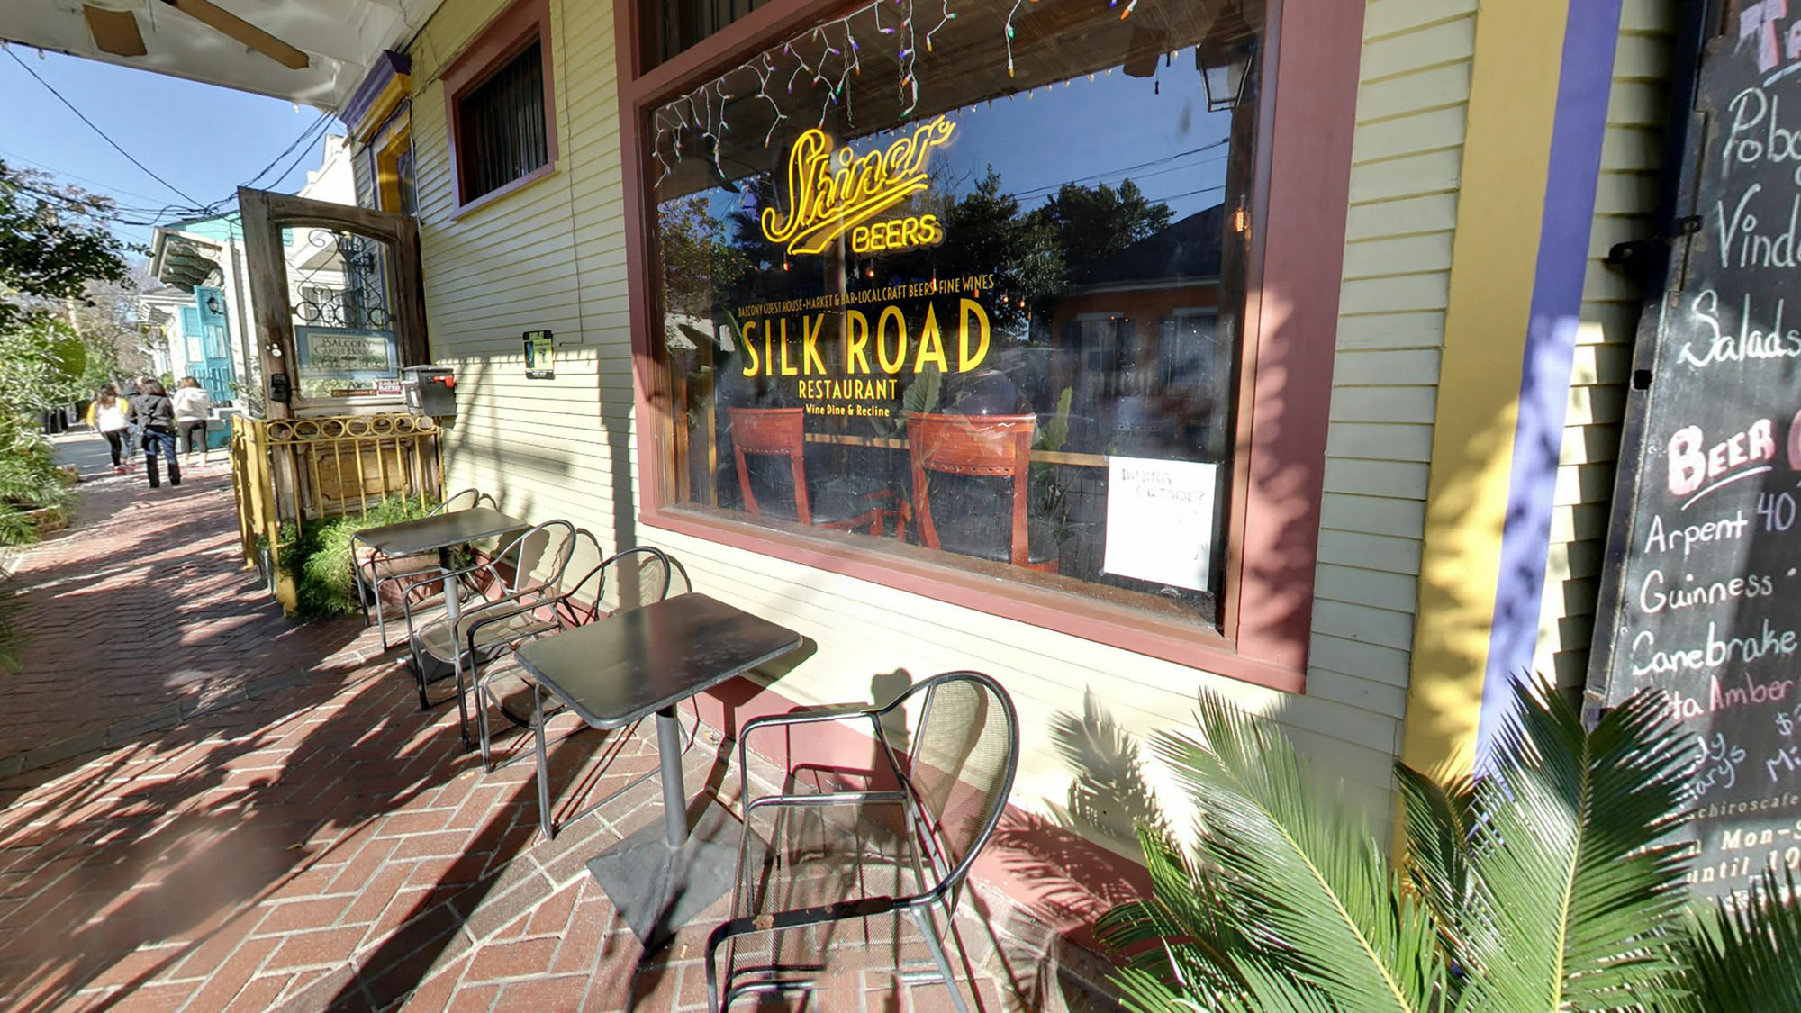
{"type": "Polygon", "coordinates": [[[1401,739],[1430,773],[1475,761],[1567,16],[1567,0],[1477,13],[1401,739]]]}

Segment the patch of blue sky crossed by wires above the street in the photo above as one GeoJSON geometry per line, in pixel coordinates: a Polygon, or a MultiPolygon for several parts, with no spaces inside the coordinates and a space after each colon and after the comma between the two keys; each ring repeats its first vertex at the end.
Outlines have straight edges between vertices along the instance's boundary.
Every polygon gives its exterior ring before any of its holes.
{"type": "MultiPolygon", "coordinates": [[[[319,110],[295,110],[283,99],[56,52],[40,59],[25,45],[0,50],[0,160],[52,171],[61,182],[112,196],[126,209],[121,216],[133,222],[153,220],[171,204],[225,202],[270,162],[276,166],[259,189],[292,193],[308,169],[319,168],[321,128],[344,132],[337,121],[322,124],[319,110]],[[173,189],[108,146],[13,56],[173,189]],[[277,162],[310,128],[306,144],[277,162]]],[[[164,211],[164,220],[176,216],[164,211]]],[[[119,224],[113,231],[133,243],[148,245],[151,236],[148,225],[119,224]]]]}

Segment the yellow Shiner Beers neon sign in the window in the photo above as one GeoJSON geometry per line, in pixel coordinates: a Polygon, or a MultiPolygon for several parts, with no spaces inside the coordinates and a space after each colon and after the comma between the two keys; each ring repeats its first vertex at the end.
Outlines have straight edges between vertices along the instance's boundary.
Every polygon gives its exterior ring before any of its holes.
{"type": "Polygon", "coordinates": [[[940,115],[884,151],[861,159],[850,148],[834,151],[823,130],[801,133],[789,151],[787,220],[780,222],[780,211],[765,207],[764,236],[787,243],[791,254],[825,252],[845,233],[859,254],[940,242],[944,227],[933,214],[872,220],[929,186],[926,159],[951,139],[953,130],[956,124],[940,115]]]}

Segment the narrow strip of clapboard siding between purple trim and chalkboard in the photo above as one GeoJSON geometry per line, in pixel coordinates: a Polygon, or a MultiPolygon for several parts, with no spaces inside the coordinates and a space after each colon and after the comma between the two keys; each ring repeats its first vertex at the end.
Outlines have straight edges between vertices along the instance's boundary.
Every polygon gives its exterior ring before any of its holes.
{"type": "Polygon", "coordinates": [[[1606,267],[1606,251],[1650,234],[1668,117],[1670,47],[1677,0],[1625,0],[1608,92],[1581,330],[1570,371],[1569,418],[1558,456],[1551,552],[1533,665],[1570,689],[1587,680],[1597,568],[1606,539],[1619,424],[1632,373],[1643,292],[1606,267]]]}

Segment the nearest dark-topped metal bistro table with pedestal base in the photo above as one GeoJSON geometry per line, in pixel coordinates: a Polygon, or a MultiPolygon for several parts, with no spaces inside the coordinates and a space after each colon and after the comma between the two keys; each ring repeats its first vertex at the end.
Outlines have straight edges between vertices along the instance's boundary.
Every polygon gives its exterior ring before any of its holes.
{"type": "Polygon", "coordinates": [[[535,676],[538,818],[551,824],[542,692],[593,728],[657,716],[663,826],[647,826],[587,863],[620,916],[654,950],[729,889],[738,858],[737,820],[715,800],[688,833],[675,705],[801,645],[792,629],[706,595],[679,595],[519,649],[535,676]]]}

